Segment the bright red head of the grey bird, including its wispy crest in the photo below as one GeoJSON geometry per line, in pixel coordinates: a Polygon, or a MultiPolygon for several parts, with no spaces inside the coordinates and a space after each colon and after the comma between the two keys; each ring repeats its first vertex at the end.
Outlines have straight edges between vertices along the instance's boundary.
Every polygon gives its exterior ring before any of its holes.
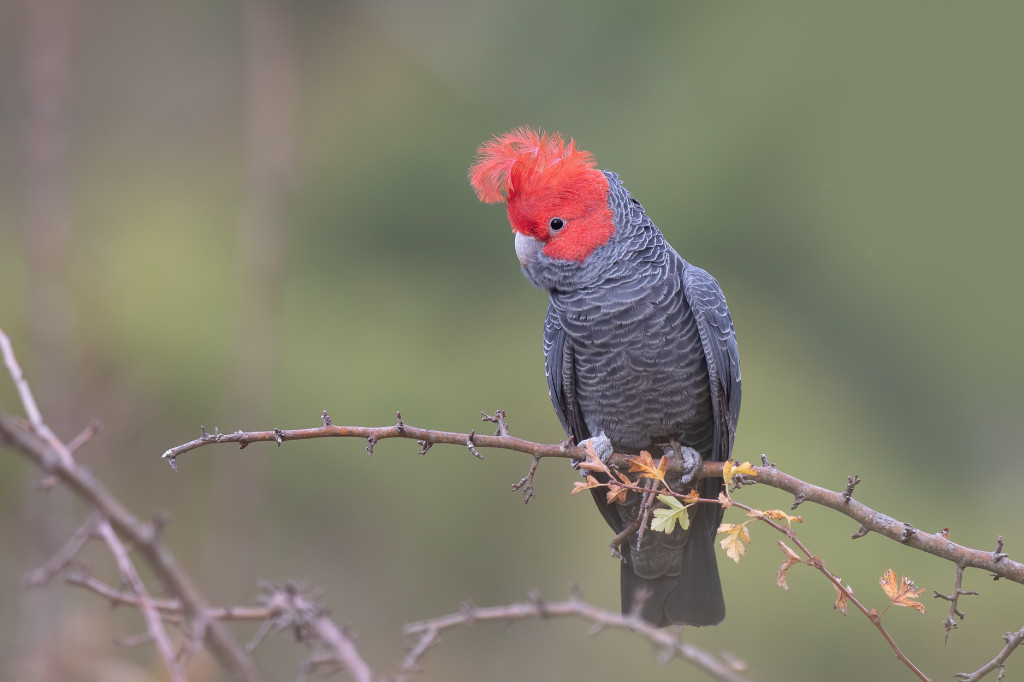
{"type": "Polygon", "coordinates": [[[508,204],[512,229],[550,258],[582,262],[615,231],[608,179],[588,152],[558,133],[522,127],[481,144],[469,169],[480,201],[508,204]]]}

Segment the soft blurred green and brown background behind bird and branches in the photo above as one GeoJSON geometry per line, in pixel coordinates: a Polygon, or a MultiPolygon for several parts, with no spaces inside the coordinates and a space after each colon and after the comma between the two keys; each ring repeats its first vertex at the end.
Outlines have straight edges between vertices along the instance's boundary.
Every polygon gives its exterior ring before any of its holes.
{"type": "MultiPolygon", "coordinates": [[[[166,537],[215,603],[260,579],[323,589],[380,674],[404,623],[579,584],[615,608],[617,566],[574,474],[411,441],[199,451],[200,424],[481,429],[557,441],[541,354],[545,295],[522,279],[502,207],[465,170],[490,134],[575,137],[618,172],[739,335],[735,455],[762,453],[926,530],[1024,546],[1024,6],[1017,2],[0,3],[0,326],[51,425],[104,430],[80,458],[166,537]]],[[[17,411],[9,381],[0,404],[17,411]]],[[[143,630],[59,580],[22,574],[86,510],[0,456],[0,677],[159,680],[143,630]]],[[[787,508],[774,491],[742,499],[787,508]]],[[[810,506],[801,535],[868,604],[887,568],[928,613],[885,616],[937,678],[1021,627],[1024,592],[810,506]]],[[[730,512],[728,516],[732,516],[730,512]]],[[[738,514],[735,514],[738,518],[738,514]]],[[[721,557],[729,615],[688,640],[764,680],[908,679],[810,569],[775,586],[776,538],[721,557]]],[[[85,555],[114,580],[100,548],[85,555]]],[[[450,633],[420,679],[703,679],[580,622],[450,633]]],[[[253,629],[238,628],[241,637],[253,629]]],[[[301,647],[257,651],[267,679],[301,647]]],[[[1008,676],[1024,670],[1011,658],[1008,676]],[[1017,671],[1017,672],[1014,672],[1017,671]]],[[[196,680],[219,671],[201,656],[196,680]]]]}

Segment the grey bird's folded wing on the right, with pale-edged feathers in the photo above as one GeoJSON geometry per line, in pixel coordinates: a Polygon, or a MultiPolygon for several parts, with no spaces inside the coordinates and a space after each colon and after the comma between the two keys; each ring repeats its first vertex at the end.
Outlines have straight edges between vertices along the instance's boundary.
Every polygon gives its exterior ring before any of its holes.
{"type": "Polygon", "coordinates": [[[736,332],[722,288],[707,271],[687,263],[683,269],[683,295],[696,319],[708,361],[715,419],[712,459],[724,462],[729,459],[736,437],[742,392],[736,332]]]}

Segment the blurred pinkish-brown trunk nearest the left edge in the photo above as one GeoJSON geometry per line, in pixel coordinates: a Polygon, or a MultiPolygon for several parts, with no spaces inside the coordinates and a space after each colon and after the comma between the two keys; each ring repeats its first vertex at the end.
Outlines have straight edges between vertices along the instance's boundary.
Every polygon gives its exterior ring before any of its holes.
{"type": "MultiPolygon", "coordinates": [[[[73,310],[69,296],[72,220],[69,201],[72,9],[68,0],[26,0],[24,86],[26,120],[25,241],[29,258],[29,371],[47,423],[61,438],[74,435],[76,418],[73,310]]],[[[71,530],[71,501],[63,491],[45,498],[28,488],[19,535],[28,561],[42,561],[71,530]]],[[[54,590],[25,593],[19,608],[19,659],[14,677],[54,680],[61,609],[54,590]]]]}

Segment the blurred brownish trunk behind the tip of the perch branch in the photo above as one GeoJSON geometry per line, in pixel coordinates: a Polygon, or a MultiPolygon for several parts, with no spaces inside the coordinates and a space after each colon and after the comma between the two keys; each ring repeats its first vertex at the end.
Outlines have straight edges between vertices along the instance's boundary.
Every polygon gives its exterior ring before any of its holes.
{"type": "MultiPolygon", "coordinates": [[[[246,183],[239,223],[234,366],[224,414],[264,423],[273,406],[279,314],[286,248],[285,213],[294,174],[295,63],[286,0],[249,0],[245,7],[246,183]]],[[[238,589],[224,565],[248,562],[258,532],[264,463],[219,464],[204,562],[210,589],[238,589]],[[225,563],[227,562],[227,563],[225,563]],[[218,570],[218,566],[221,568],[218,570]]]]}

